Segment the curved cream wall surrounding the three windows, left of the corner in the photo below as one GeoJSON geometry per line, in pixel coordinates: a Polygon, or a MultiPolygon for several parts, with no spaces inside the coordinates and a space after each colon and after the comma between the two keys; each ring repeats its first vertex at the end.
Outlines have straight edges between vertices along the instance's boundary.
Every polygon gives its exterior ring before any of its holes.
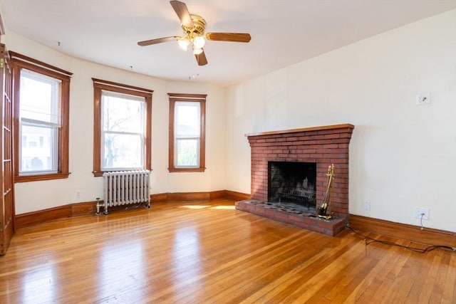
{"type": "Polygon", "coordinates": [[[207,192],[225,189],[226,93],[224,88],[201,83],[175,83],[110,68],[66,56],[11,31],[2,42],[24,54],[73,73],[70,91],[70,177],[18,183],[16,214],[48,209],[103,197],[102,177],[93,177],[93,83],[100,78],[154,90],[152,95],[152,194],[207,192]],[[170,173],[168,164],[167,93],[207,94],[206,167],[204,173],[170,173]],[[81,192],[76,197],[76,192],[81,192]]]}

